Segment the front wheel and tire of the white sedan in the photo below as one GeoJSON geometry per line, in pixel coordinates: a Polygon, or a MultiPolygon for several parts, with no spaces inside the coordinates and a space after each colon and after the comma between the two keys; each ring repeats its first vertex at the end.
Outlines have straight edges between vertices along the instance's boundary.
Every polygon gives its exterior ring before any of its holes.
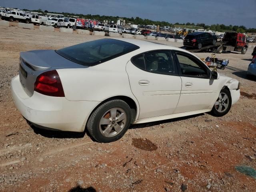
{"type": "Polygon", "coordinates": [[[218,99],[216,100],[212,108],[212,115],[217,117],[226,115],[231,108],[231,104],[232,104],[232,98],[229,90],[222,89],[220,91],[218,99]]]}

